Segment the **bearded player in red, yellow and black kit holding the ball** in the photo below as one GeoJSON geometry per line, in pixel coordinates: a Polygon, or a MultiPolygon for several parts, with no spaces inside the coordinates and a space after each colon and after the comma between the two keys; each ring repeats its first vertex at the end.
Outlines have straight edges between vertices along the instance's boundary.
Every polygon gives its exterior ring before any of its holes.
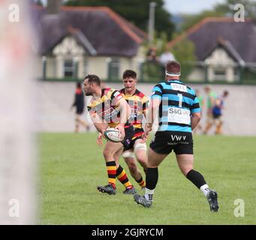
{"type": "Polygon", "coordinates": [[[125,193],[134,193],[135,189],[128,180],[125,170],[119,165],[119,158],[115,160],[115,155],[122,150],[123,145],[129,145],[134,136],[134,127],[128,123],[131,108],[115,89],[102,89],[101,81],[96,75],[85,77],[83,89],[86,96],[92,96],[87,107],[97,130],[104,134],[107,127],[115,127],[122,136],[125,136],[122,143],[110,141],[106,143],[103,154],[107,165],[108,184],[97,188],[102,193],[116,194],[116,176],[122,175],[125,193]]]}

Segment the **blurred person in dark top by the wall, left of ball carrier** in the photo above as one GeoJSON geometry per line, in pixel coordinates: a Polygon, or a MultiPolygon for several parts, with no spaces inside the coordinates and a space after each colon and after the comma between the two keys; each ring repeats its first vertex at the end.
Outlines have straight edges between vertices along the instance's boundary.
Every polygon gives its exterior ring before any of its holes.
{"type": "Polygon", "coordinates": [[[84,111],[85,99],[83,95],[83,89],[81,87],[81,83],[77,83],[77,89],[74,96],[74,103],[71,106],[71,110],[73,107],[76,107],[76,118],[75,118],[75,133],[79,132],[80,125],[86,127],[86,130],[89,131],[89,124],[86,123],[81,117],[84,111]]]}

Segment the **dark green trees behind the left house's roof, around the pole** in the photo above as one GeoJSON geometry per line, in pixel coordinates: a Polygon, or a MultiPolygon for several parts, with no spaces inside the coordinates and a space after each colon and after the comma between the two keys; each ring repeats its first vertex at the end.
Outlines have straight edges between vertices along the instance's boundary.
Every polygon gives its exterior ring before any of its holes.
{"type": "Polygon", "coordinates": [[[170,21],[170,13],[164,9],[163,0],[69,0],[68,6],[107,6],[138,28],[148,31],[149,3],[155,1],[155,31],[165,31],[168,38],[173,34],[174,25],[170,21]]]}

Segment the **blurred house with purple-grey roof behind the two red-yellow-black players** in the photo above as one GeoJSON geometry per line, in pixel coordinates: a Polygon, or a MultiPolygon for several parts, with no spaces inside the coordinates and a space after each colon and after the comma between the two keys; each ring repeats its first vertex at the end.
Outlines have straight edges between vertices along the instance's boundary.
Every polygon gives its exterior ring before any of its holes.
{"type": "Polygon", "coordinates": [[[140,73],[147,34],[109,7],[35,7],[38,15],[38,77],[120,80],[128,68],[140,73]]]}

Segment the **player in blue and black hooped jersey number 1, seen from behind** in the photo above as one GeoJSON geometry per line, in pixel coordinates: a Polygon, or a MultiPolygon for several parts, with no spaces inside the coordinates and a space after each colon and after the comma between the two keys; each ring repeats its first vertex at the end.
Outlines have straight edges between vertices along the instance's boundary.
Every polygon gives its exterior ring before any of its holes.
{"type": "Polygon", "coordinates": [[[191,131],[200,121],[200,107],[193,89],[179,81],[179,62],[171,61],[166,66],[166,81],[152,90],[149,107],[149,123],[146,124],[143,140],[149,136],[158,113],[158,130],[152,139],[148,153],[146,194],[134,194],[134,200],[144,207],[152,205],[155,186],[158,182],[158,165],[174,151],[181,172],[206,196],[211,211],[218,211],[217,193],[210,190],[203,175],[195,171],[193,138],[191,131]]]}

